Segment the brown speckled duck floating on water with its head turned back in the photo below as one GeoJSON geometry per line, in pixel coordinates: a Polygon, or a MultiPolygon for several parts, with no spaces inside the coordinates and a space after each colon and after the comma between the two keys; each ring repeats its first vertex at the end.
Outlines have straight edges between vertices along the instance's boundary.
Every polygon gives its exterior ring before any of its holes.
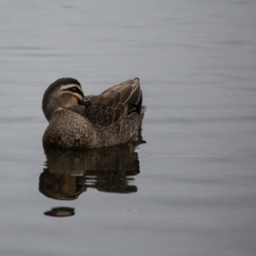
{"type": "Polygon", "coordinates": [[[74,149],[136,141],[148,109],[138,78],[96,96],[85,96],[77,79],[57,79],[45,90],[42,108],[49,121],[44,146],[74,149]]]}

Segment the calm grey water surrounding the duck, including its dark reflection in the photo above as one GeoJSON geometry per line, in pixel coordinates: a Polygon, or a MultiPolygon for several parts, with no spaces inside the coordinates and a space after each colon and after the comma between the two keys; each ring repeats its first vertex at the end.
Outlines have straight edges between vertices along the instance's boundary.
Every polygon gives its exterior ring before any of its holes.
{"type": "Polygon", "coordinates": [[[254,256],[255,11],[2,0],[0,254],[254,256]],[[147,143],[44,154],[41,99],[61,77],[88,95],[139,77],[147,143]]]}

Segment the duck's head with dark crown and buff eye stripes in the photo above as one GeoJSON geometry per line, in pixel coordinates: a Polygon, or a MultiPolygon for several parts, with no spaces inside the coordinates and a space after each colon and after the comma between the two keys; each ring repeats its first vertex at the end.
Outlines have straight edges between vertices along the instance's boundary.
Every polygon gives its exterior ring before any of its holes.
{"type": "Polygon", "coordinates": [[[58,79],[50,84],[44,92],[42,108],[46,119],[60,108],[70,108],[73,105],[88,105],[89,99],[84,96],[81,84],[76,79],[58,79]]]}

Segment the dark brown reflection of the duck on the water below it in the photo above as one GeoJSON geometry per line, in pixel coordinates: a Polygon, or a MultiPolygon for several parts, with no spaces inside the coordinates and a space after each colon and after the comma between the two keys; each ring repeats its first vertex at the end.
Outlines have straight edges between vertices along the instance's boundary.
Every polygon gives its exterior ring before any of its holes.
{"type": "MultiPolygon", "coordinates": [[[[47,161],[39,177],[39,191],[56,200],[75,200],[87,189],[135,193],[132,184],[140,172],[137,142],[108,148],[72,150],[44,147],[47,161]]],[[[48,214],[49,215],[49,214],[48,214]]]]}

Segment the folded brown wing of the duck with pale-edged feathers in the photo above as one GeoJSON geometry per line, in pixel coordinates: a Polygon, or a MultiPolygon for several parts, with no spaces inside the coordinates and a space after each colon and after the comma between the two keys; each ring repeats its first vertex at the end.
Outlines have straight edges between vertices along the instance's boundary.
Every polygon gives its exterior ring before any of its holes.
{"type": "Polygon", "coordinates": [[[90,96],[84,115],[93,125],[107,127],[131,113],[141,113],[143,94],[139,79],[130,79],[108,88],[98,96],[90,96]]]}

